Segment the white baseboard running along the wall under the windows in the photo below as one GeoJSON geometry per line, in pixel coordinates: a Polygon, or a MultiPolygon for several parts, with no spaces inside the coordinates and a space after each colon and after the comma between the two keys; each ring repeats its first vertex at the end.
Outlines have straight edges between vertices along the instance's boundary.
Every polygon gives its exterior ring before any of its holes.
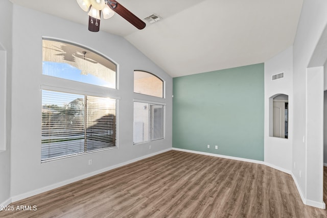
{"type": "Polygon", "coordinates": [[[22,199],[25,199],[25,198],[29,198],[29,197],[38,195],[39,193],[43,193],[45,191],[49,191],[49,190],[52,190],[52,189],[55,189],[55,188],[58,188],[58,187],[61,187],[61,186],[64,186],[64,185],[79,181],[79,180],[82,180],[82,179],[86,179],[88,177],[95,176],[97,174],[101,174],[101,173],[104,173],[106,171],[110,171],[111,169],[118,168],[118,167],[130,164],[130,163],[133,163],[133,162],[136,162],[136,161],[139,161],[139,160],[143,160],[145,158],[152,157],[154,155],[161,154],[161,153],[164,153],[164,152],[167,152],[167,151],[171,151],[171,148],[166,149],[166,150],[162,150],[162,151],[159,151],[159,152],[156,152],[156,153],[152,153],[152,154],[149,154],[149,155],[145,155],[145,156],[142,156],[142,157],[138,157],[138,158],[135,158],[135,159],[132,159],[132,160],[128,160],[128,161],[125,161],[123,163],[112,165],[112,166],[109,166],[109,167],[106,167],[106,168],[103,168],[103,169],[99,169],[98,171],[94,171],[94,172],[91,172],[91,173],[88,173],[88,174],[84,174],[84,175],[81,175],[81,176],[78,176],[78,177],[75,177],[75,178],[72,178],[72,179],[68,179],[68,180],[65,180],[65,181],[62,181],[62,182],[59,182],[59,183],[56,183],[56,184],[52,184],[52,185],[49,185],[49,186],[38,188],[38,189],[33,190],[33,191],[22,193],[21,195],[13,196],[11,198],[11,202],[15,202],[15,201],[19,201],[19,200],[22,200],[22,199]]]}

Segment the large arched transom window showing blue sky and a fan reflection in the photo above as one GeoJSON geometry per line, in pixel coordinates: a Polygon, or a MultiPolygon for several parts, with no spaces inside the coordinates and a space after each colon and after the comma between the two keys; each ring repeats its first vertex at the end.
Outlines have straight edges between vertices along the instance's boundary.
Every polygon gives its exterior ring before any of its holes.
{"type": "Polygon", "coordinates": [[[43,39],[42,74],[116,88],[116,65],[85,47],[43,39]]]}

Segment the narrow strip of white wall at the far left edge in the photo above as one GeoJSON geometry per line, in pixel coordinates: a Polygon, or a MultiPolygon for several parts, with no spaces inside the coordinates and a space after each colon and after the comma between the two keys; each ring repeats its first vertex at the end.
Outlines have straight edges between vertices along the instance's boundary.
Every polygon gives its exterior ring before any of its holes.
{"type": "MultiPolygon", "coordinates": [[[[6,81],[1,81],[1,86],[6,84],[5,89],[5,98],[3,93],[0,93],[0,116],[4,115],[4,110],[6,110],[6,123],[3,124],[3,120],[1,121],[0,130],[5,131],[0,134],[2,140],[0,143],[0,147],[2,151],[0,151],[0,205],[6,205],[9,203],[10,200],[10,106],[11,106],[11,46],[12,46],[12,22],[11,17],[12,13],[12,3],[9,1],[0,1],[0,8],[2,12],[0,13],[0,52],[2,56],[6,56],[7,66],[6,66],[6,75],[4,71],[0,70],[1,80],[6,78],[6,81]],[[3,104],[6,101],[6,108],[3,108],[3,104]],[[3,135],[5,133],[5,135],[3,135]],[[5,140],[4,140],[5,137],[5,140]],[[3,144],[5,143],[5,144],[3,144]]],[[[3,66],[1,66],[3,67],[3,66]]],[[[1,87],[4,88],[4,87],[1,87]]],[[[1,91],[3,92],[3,90],[1,91]]],[[[2,117],[3,119],[3,117],[2,117]]]]}

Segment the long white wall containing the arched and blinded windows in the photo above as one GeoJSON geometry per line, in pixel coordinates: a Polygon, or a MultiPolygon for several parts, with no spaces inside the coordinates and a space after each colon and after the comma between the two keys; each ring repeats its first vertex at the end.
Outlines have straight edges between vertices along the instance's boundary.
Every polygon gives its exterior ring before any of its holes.
{"type": "MultiPolygon", "coordinates": [[[[86,24],[86,23],[85,23],[86,24]]],[[[157,101],[156,98],[146,97],[157,101]]],[[[12,78],[13,201],[28,197],[84,175],[172,147],[172,78],[120,36],[92,33],[79,25],[14,5],[12,78]],[[119,149],[41,163],[42,37],[71,41],[104,54],[119,67],[119,149]],[[133,70],[152,72],[166,82],[166,139],[133,145],[133,70]],[[151,144],[151,150],[149,145],[151,144]],[[92,165],[88,160],[92,159],[92,165]]]]}

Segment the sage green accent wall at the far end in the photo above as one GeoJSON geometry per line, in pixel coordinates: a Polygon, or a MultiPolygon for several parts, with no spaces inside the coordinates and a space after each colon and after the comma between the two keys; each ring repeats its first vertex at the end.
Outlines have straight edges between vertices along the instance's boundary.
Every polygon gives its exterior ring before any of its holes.
{"type": "Polygon", "coordinates": [[[173,78],[173,94],[173,148],[264,160],[264,63],[173,78]]]}

